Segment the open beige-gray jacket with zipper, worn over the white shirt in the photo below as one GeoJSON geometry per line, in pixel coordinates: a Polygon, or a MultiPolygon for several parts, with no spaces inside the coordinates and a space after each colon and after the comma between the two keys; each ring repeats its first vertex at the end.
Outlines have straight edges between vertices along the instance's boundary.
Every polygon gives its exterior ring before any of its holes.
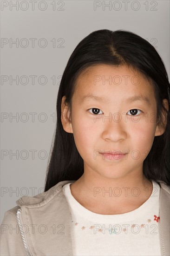
{"type": "MultiPolygon", "coordinates": [[[[1,223],[1,256],[72,256],[72,215],[62,181],[35,196],[23,196],[1,223]]],[[[158,222],[162,256],[170,256],[170,187],[160,189],[158,222]]]]}

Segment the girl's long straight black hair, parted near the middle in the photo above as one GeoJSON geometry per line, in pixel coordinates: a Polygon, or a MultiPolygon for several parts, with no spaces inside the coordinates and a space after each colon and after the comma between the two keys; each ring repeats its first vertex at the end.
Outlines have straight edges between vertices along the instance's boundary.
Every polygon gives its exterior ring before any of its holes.
{"type": "Polygon", "coordinates": [[[170,111],[163,106],[163,99],[167,99],[170,109],[170,83],[163,61],[157,50],[139,35],[126,30],[101,29],[78,43],[62,75],[57,96],[57,123],[44,191],[61,181],[76,181],[84,173],[84,162],[76,148],[73,134],[65,132],[62,126],[61,99],[65,95],[65,104],[71,109],[78,76],[95,64],[125,64],[154,84],[157,122],[163,123],[161,114],[166,113],[167,124],[163,135],[155,136],[144,160],[143,172],[147,179],[159,179],[170,185],[170,111]]]}

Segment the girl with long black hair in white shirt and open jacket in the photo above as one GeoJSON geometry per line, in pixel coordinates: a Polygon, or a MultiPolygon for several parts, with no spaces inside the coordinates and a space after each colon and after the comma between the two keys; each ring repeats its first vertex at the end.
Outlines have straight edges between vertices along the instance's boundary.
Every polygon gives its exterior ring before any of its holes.
{"type": "Polygon", "coordinates": [[[170,255],[170,83],[149,42],[94,31],[59,87],[45,191],[5,213],[1,255],[170,255]]]}

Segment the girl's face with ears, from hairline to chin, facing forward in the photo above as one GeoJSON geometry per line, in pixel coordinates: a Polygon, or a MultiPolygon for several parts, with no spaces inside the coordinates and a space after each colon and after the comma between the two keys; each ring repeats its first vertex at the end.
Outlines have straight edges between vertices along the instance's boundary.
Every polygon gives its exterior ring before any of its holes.
{"type": "Polygon", "coordinates": [[[63,128],[73,133],[84,173],[120,178],[142,172],[154,137],[164,130],[156,123],[153,85],[141,74],[127,66],[96,65],[77,80],[71,119],[63,100],[63,128]],[[102,154],[109,151],[117,155],[102,154]]]}

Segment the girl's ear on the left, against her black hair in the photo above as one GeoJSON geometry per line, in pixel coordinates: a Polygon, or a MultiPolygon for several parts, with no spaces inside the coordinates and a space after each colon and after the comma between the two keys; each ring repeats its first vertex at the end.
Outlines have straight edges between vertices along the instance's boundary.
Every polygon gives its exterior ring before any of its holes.
{"type": "Polygon", "coordinates": [[[73,133],[72,131],[72,120],[71,120],[71,111],[68,108],[68,105],[64,102],[65,96],[62,97],[61,100],[61,123],[63,125],[63,129],[67,133],[73,133]]]}

